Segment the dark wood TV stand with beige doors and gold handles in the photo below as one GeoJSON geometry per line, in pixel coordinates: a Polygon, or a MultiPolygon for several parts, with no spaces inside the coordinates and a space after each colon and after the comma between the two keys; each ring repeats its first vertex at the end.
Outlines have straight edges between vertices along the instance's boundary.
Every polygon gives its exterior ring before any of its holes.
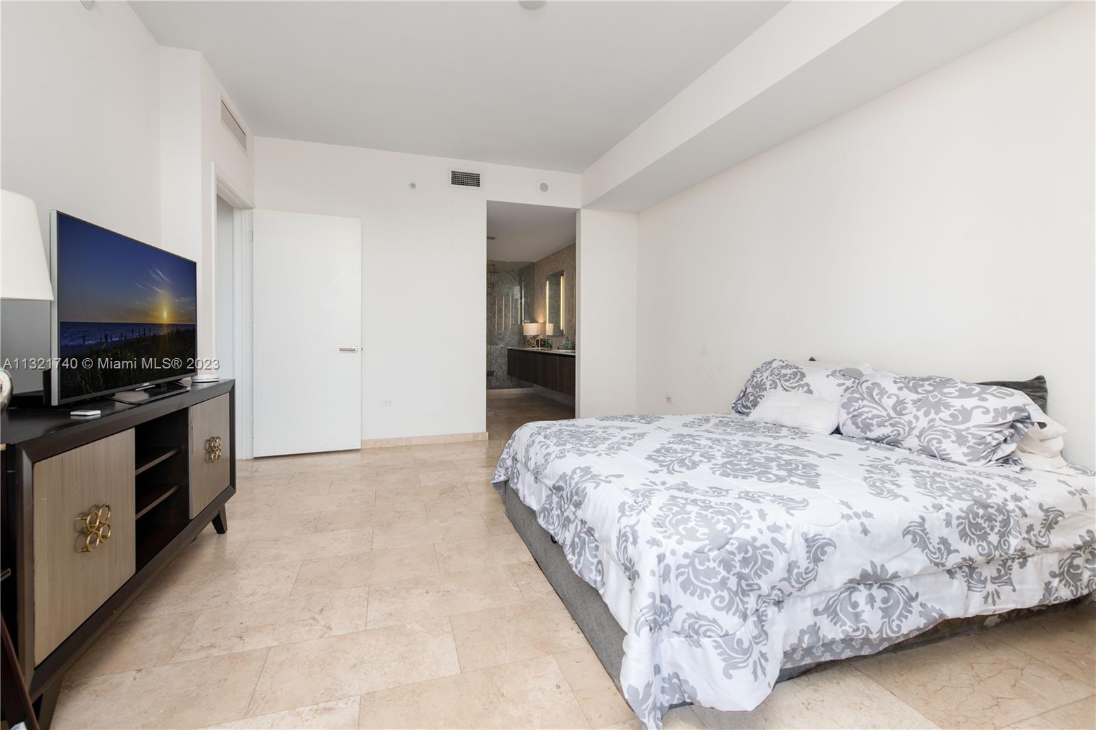
{"type": "Polygon", "coordinates": [[[66,672],[126,606],[206,526],[228,528],[233,383],[171,392],[99,401],[87,420],[41,406],[0,413],[0,613],[43,730],[66,672]]]}

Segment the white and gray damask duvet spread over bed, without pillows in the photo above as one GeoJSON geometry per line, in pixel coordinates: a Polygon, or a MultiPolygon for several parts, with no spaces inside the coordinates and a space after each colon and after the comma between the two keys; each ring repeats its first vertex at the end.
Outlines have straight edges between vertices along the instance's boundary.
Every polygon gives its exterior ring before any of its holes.
{"type": "Polygon", "coordinates": [[[648,728],[749,710],[781,666],[1096,590],[1093,472],[967,467],[740,415],[529,423],[492,481],[626,632],[648,728]]]}

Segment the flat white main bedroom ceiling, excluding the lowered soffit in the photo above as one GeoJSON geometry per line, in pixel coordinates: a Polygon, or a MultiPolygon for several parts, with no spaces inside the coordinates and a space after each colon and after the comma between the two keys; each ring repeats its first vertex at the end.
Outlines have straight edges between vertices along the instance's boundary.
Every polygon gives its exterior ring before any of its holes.
{"type": "Polygon", "coordinates": [[[130,4],[253,134],[581,172],[786,3],[130,4]]]}

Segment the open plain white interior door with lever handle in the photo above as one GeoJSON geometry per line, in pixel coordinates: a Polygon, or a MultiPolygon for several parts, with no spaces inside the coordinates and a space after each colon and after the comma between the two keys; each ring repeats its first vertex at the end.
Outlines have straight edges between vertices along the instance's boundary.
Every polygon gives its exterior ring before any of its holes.
{"type": "Polygon", "coordinates": [[[362,447],[362,221],[255,210],[254,455],[362,447]]]}

